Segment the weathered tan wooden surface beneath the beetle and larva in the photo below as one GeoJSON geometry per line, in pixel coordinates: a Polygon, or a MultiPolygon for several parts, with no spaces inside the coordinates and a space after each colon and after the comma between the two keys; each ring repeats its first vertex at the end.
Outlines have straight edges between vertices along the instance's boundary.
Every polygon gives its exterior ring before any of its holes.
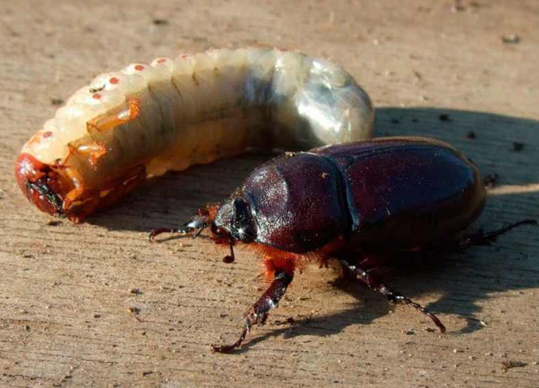
{"type": "Polygon", "coordinates": [[[262,292],[258,257],[238,250],[225,265],[207,238],[150,245],[147,231],[221,201],[266,157],[168,174],[77,226],[30,206],[12,173],[57,109],[51,99],[93,75],[264,44],[346,67],[377,107],[376,135],[434,136],[497,172],[478,224],[538,218],[539,3],[452,5],[2,1],[0,386],[539,386],[537,227],[386,276],[437,313],[446,335],[334,270],[308,268],[240,352],[212,354],[211,343],[236,339],[262,292]],[[503,42],[512,35],[518,42],[503,42]]]}

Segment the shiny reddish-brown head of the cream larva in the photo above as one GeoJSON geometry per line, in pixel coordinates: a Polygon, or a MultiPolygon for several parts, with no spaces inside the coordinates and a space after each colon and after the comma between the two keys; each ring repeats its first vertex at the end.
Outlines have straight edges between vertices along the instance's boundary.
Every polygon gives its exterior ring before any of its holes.
{"type": "Polygon", "coordinates": [[[26,198],[41,211],[53,216],[62,216],[62,199],[57,174],[47,164],[23,153],[15,164],[15,177],[26,198]]]}

